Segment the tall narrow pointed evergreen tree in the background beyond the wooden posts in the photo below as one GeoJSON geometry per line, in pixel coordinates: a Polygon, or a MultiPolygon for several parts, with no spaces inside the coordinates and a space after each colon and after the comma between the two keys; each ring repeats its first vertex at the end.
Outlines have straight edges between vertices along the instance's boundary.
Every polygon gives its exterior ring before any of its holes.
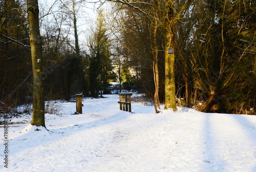
{"type": "Polygon", "coordinates": [[[91,96],[97,97],[99,91],[108,86],[108,77],[112,69],[111,65],[110,34],[105,27],[102,13],[97,19],[97,28],[89,42],[89,82],[91,96]]]}

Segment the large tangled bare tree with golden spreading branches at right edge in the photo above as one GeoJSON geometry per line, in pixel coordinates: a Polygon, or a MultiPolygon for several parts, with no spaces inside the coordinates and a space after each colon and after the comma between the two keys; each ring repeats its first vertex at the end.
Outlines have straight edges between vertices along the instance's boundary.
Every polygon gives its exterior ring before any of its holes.
{"type": "MultiPolygon", "coordinates": [[[[243,92],[251,93],[251,87],[255,85],[251,82],[255,76],[246,72],[246,69],[252,70],[252,56],[255,56],[255,32],[252,32],[255,8],[252,6],[250,1],[211,1],[198,6],[201,9],[192,30],[194,38],[190,51],[194,86],[204,100],[198,107],[200,111],[210,111],[216,105],[215,109],[226,112],[234,95],[246,97],[243,92]],[[240,85],[247,91],[239,93],[240,85]],[[232,90],[236,92],[229,93],[227,98],[227,93],[232,90]]],[[[253,97],[250,95],[248,97],[253,97]]],[[[250,101],[254,102],[253,99],[250,101]]],[[[247,103],[247,106],[252,105],[247,103]]]]}

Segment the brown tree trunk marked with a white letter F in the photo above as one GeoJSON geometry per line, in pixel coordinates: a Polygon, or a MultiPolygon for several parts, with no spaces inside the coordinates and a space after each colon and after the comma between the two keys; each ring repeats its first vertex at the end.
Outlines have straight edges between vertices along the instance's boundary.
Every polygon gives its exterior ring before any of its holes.
{"type": "Polygon", "coordinates": [[[39,8],[37,0],[28,0],[29,35],[33,71],[33,116],[31,125],[45,125],[45,83],[42,59],[42,41],[39,30],[39,8]]]}

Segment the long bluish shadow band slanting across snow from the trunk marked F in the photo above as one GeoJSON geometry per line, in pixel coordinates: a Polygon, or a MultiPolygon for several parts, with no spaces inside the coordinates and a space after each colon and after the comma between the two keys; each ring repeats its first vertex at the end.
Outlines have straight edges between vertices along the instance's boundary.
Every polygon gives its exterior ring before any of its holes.
{"type": "MultiPolygon", "coordinates": [[[[117,112],[112,116],[96,119],[90,122],[84,122],[84,124],[73,125],[69,127],[63,127],[58,129],[41,130],[41,131],[28,131],[24,132],[20,136],[9,141],[11,153],[15,154],[21,151],[31,151],[33,152],[33,148],[45,145],[48,146],[54,141],[60,140],[64,137],[75,135],[77,132],[86,131],[90,129],[94,129],[100,126],[105,126],[109,124],[113,124],[114,122],[123,120],[133,113],[123,113],[123,111],[117,112]],[[16,147],[16,148],[15,148],[16,147]]],[[[81,136],[82,137],[82,136],[81,136]]],[[[74,138],[76,140],[76,138],[74,138]]],[[[75,144],[75,141],[74,141],[75,144]]]]}

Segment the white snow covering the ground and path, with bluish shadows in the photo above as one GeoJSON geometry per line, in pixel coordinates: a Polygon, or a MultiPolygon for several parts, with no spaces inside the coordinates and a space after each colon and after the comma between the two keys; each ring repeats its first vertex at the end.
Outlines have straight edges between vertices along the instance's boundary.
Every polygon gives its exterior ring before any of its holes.
{"type": "Polygon", "coordinates": [[[2,139],[0,170],[256,171],[256,116],[188,108],[156,114],[134,102],[130,113],[119,110],[118,95],[107,96],[83,100],[79,115],[72,115],[75,103],[61,103],[61,115],[46,114],[47,130],[31,126],[31,115],[13,118],[8,168],[2,139]]]}

